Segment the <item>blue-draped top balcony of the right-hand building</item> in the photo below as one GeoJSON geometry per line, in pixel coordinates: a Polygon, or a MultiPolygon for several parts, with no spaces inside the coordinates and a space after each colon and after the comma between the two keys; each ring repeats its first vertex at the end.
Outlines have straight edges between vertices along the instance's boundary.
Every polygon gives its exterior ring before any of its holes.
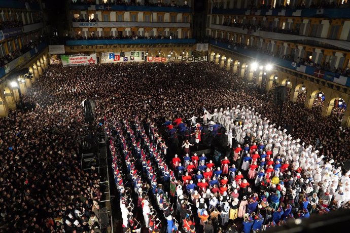
{"type": "Polygon", "coordinates": [[[348,8],[333,9],[212,9],[215,15],[256,15],[256,16],[290,16],[307,18],[349,19],[348,8]]]}

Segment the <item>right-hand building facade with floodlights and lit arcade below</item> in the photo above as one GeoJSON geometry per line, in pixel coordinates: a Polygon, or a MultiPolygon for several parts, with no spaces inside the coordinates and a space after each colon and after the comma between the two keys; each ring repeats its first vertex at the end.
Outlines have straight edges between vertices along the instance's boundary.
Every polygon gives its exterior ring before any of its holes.
{"type": "Polygon", "coordinates": [[[303,92],[305,106],[321,105],[323,115],[344,108],[342,123],[350,126],[349,4],[209,1],[209,59],[266,91],[286,85],[292,101],[303,92]]]}

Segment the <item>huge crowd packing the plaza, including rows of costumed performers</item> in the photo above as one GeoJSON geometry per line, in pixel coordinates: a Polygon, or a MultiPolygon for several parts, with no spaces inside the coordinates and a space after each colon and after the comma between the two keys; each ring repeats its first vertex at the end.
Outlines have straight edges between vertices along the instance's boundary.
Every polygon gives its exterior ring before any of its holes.
{"type": "MultiPolygon", "coordinates": [[[[286,101],[279,131],[273,126],[278,121],[273,92],[262,94],[243,77],[209,62],[54,64],[23,96],[26,109],[1,119],[2,230],[98,231],[99,176],[78,162],[87,127],[81,106],[85,98],[96,101],[96,126],[107,119],[114,131],[109,137],[115,141],[115,161],[121,163],[116,165],[127,172],[142,170],[140,179],[152,190],[145,197],[133,182],[135,188],[119,189],[121,204],[122,193],[137,194],[139,208],[146,208],[140,223],[145,227],[150,227],[145,222],[151,203],[162,210],[160,218],[173,224],[168,232],[176,227],[175,219],[188,232],[219,232],[219,226],[229,226],[225,232],[247,233],[287,218],[349,208],[349,177],[341,166],[349,159],[350,131],[332,115],[325,118],[286,101]],[[283,131],[286,125],[294,125],[293,138],[283,131]],[[213,140],[225,141],[229,153],[217,161],[214,154],[187,158],[197,144],[205,146],[205,131],[213,140]],[[186,138],[191,145],[183,144],[186,138]],[[175,153],[178,159],[173,160],[175,153]],[[130,164],[125,156],[131,157],[130,164]],[[143,159],[157,172],[144,168],[143,159]],[[169,213],[163,203],[172,209],[169,213]]],[[[115,174],[116,181],[130,177],[115,174]]],[[[131,227],[124,218],[123,225],[131,227]]]]}

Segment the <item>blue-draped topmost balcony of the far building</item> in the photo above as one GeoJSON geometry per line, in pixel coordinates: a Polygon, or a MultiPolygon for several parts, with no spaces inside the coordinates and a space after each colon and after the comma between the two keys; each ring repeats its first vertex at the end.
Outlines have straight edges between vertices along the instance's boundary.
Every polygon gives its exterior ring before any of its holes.
{"type": "Polygon", "coordinates": [[[177,12],[191,13],[188,7],[156,7],[156,6],[120,6],[120,5],[77,5],[69,6],[70,10],[95,10],[95,11],[142,11],[142,12],[177,12]]]}

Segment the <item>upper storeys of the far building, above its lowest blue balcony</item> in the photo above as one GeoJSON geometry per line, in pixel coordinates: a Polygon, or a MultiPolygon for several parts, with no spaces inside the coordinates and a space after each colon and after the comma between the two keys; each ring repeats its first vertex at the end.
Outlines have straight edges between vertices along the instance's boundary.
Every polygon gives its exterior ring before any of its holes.
{"type": "Polygon", "coordinates": [[[68,2],[71,37],[192,37],[192,1],[68,2]]]}

